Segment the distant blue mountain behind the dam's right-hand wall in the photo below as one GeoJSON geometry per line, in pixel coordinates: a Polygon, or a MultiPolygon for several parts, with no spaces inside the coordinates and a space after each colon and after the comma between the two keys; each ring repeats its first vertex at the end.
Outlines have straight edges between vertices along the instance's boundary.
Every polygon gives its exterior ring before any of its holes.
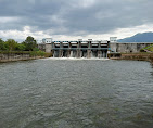
{"type": "Polygon", "coordinates": [[[118,42],[153,42],[153,33],[137,34],[132,37],[117,40],[118,42]]]}

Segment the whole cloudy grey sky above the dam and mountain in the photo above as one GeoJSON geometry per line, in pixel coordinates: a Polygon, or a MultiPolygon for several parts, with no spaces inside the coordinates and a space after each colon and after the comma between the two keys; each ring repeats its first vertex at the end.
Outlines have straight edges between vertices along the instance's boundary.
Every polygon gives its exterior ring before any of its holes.
{"type": "Polygon", "coordinates": [[[153,31],[153,0],[0,0],[0,38],[109,40],[153,31]]]}

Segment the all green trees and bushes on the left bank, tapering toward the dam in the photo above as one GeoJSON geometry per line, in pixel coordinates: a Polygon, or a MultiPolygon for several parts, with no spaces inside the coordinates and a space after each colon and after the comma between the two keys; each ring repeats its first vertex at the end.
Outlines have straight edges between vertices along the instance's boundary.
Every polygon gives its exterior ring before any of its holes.
{"type": "Polygon", "coordinates": [[[50,53],[46,53],[37,48],[36,40],[28,36],[25,41],[18,43],[14,39],[8,39],[3,41],[0,38],[0,53],[11,54],[30,54],[30,56],[51,56],[50,53]]]}

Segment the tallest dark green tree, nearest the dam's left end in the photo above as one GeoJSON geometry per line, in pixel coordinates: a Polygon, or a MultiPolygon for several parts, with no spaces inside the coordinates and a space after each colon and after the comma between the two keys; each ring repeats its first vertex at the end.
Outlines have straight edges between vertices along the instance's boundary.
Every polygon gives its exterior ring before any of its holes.
{"type": "Polygon", "coordinates": [[[25,44],[26,51],[34,51],[34,49],[37,47],[36,40],[31,36],[28,36],[23,44],[25,44]]]}

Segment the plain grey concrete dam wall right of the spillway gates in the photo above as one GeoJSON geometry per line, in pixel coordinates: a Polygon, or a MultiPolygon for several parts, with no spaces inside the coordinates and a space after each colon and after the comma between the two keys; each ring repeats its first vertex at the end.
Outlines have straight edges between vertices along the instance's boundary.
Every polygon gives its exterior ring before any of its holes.
{"type": "Polygon", "coordinates": [[[141,49],[153,44],[153,42],[111,42],[111,52],[138,53],[141,49]]]}

